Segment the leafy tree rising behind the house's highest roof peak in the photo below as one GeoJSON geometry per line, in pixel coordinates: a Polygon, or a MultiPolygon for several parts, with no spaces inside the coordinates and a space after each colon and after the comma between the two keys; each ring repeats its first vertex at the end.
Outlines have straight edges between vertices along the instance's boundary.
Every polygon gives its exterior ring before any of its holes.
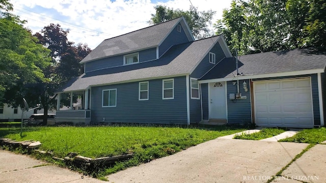
{"type": "Polygon", "coordinates": [[[212,36],[214,33],[209,28],[211,25],[211,19],[215,14],[215,11],[197,11],[197,8],[191,6],[189,10],[183,11],[180,9],[174,10],[166,6],[156,6],[155,14],[151,14],[151,19],[148,21],[150,24],[158,24],[173,18],[183,16],[191,29],[195,39],[202,39],[212,36]]]}

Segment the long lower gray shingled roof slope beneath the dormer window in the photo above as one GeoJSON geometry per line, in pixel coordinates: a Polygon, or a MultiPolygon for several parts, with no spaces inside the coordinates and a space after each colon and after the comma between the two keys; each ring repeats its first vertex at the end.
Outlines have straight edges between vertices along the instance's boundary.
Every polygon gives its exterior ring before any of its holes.
{"type": "Polygon", "coordinates": [[[151,62],[84,73],[70,80],[58,92],[84,90],[89,86],[103,84],[190,74],[219,38],[220,36],[214,36],[172,46],[163,56],[151,62]]]}

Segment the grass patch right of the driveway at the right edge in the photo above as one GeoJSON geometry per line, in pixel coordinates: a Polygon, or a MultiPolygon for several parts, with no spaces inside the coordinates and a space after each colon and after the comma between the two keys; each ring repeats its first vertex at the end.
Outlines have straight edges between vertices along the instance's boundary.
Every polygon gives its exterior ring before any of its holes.
{"type": "Polygon", "coordinates": [[[281,139],[280,142],[320,143],[326,140],[326,128],[304,129],[292,137],[281,139]]]}

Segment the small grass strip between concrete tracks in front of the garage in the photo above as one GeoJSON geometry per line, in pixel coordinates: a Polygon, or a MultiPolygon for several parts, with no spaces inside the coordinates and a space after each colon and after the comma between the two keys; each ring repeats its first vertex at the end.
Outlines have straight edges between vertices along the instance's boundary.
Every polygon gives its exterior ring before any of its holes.
{"type": "Polygon", "coordinates": [[[285,132],[283,129],[279,128],[265,128],[261,129],[259,132],[252,134],[240,134],[234,136],[235,139],[247,139],[247,140],[261,140],[269,137],[273,137],[275,135],[279,135],[280,133],[285,132]]]}

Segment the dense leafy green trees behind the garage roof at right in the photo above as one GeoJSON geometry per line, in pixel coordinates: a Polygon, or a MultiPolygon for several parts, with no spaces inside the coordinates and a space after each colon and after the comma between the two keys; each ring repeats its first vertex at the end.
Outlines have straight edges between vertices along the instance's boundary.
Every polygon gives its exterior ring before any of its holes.
{"type": "Polygon", "coordinates": [[[310,0],[233,0],[216,21],[239,54],[314,47],[325,50],[326,3],[310,0]]]}

